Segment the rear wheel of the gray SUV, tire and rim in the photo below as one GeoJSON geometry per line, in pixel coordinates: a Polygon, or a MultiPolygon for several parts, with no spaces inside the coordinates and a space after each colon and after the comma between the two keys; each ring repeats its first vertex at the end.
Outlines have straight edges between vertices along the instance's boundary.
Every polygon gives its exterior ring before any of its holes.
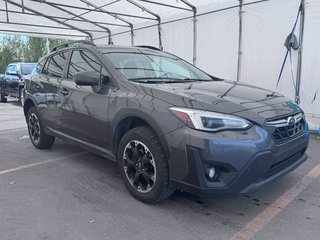
{"type": "Polygon", "coordinates": [[[32,144],[39,149],[52,147],[55,138],[44,132],[41,118],[35,107],[31,107],[27,115],[29,137],[32,144]]]}

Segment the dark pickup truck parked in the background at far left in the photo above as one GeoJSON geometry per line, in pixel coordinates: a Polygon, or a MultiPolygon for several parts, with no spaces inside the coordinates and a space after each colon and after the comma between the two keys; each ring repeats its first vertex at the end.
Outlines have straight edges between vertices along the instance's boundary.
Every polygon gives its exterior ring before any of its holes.
{"type": "Polygon", "coordinates": [[[0,102],[7,102],[7,96],[18,98],[24,103],[24,82],[36,63],[10,63],[5,74],[0,77],[0,102]]]}

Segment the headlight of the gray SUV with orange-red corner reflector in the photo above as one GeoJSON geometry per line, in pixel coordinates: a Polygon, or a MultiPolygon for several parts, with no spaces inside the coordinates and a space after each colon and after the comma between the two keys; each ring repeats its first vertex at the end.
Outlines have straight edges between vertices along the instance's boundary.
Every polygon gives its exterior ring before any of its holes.
{"type": "Polygon", "coordinates": [[[244,118],[222,113],[180,107],[172,107],[169,110],[188,127],[202,131],[244,130],[252,126],[244,118]]]}

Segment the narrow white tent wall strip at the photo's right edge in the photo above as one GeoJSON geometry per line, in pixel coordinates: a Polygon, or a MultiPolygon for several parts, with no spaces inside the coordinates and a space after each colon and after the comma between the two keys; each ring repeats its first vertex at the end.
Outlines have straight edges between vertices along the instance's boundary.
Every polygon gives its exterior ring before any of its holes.
{"type": "Polygon", "coordinates": [[[320,1],[308,0],[303,40],[301,107],[311,129],[320,127],[320,1]],[[316,91],[317,97],[313,101],[316,91]]]}

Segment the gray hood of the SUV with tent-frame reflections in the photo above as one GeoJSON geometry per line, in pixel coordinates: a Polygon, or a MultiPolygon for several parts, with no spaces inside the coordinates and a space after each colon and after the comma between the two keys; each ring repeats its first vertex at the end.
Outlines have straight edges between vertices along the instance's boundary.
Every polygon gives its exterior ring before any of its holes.
{"type": "Polygon", "coordinates": [[[231,81],[141,86],[148,95],[173,106],[233,114],[257,122],[301,111],[281,94],[231,81]]]}

